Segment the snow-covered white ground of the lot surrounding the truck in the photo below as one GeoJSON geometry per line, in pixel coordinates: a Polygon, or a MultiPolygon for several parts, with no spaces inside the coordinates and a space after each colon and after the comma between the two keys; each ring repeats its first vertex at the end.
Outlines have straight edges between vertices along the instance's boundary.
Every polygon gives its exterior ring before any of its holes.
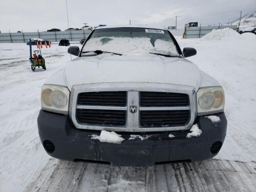
{"type": "Polygon", "coordinates": [[[196,48],[198,54],[189,60],[224,87],[228,130],[214,159],[148,168],[51,158],[38,137],[36,118],[42,84],[70,60],[67,47],[43,48],[47,70],[32,72],[29,46],[2,43],[0,191],[256,191],[256,36],[177,40],[182,48],[196,48]]]}

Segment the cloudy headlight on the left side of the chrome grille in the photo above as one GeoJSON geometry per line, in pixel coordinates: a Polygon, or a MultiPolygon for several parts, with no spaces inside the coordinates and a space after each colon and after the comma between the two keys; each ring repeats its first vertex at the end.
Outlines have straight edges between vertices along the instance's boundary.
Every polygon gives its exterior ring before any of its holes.
{"type": "Polygon", "coordinates": [[[68,114],[70,91],[64,86],[44,85],[41,92],[43,110],[68,114]]]}

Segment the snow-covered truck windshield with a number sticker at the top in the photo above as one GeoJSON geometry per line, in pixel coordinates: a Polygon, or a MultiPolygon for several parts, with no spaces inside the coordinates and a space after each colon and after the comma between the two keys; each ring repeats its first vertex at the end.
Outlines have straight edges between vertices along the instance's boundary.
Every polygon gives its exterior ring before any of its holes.
{"type": "Polygon", "coordinates": [[[151,53],[179,56],[167,30],[150,28],[106,28],[95,30],[84,44],[81,56],[95,55],[93,51],[114,52],[122,55],[151,53]]]}

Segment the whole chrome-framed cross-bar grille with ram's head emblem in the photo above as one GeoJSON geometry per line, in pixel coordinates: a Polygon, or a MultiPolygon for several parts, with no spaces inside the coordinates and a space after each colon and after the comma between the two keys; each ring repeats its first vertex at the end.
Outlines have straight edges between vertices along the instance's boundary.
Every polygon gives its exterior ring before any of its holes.
{"type": "Polygon", "coordinates": [[[70,94],[69,115],[79,129],[189,130],[195,119],[195,100],[194,88],[182,85],[132,82],[75,85],[70,94]]]}

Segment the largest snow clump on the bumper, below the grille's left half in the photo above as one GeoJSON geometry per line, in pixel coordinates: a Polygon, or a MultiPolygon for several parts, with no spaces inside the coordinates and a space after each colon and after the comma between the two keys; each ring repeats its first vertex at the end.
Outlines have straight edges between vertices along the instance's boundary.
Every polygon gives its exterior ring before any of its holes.
{"type": "Polygon", "coordinates": [[[100,142],[107,142],[107,143],[115,143],[120,144],[125,139],[122,138],[122,135],[116,134],[114,131],[108,132],[102,130],[100,135],[91,135],[91,139],[98,139],[100,142]]]}

